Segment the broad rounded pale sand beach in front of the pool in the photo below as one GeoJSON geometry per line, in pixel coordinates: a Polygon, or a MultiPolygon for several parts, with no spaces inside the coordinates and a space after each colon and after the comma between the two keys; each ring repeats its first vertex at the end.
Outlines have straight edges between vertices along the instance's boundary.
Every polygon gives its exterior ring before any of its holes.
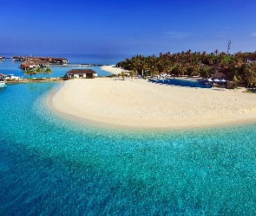
{"type": "Polygon", "coordinates": [[[138,128],[204,127],[256,121],[256,94],[242,89],[166,86],[145,79],[68,80],[51,97],[50,103],[62,116],[64,113],[76,117],[74,121],[89,119],[138,128]]]}

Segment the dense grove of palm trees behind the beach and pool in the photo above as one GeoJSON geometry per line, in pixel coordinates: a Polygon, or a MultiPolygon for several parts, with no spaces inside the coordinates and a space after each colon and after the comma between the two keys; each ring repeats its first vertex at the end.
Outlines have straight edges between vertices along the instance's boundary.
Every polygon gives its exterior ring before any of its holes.
{"type": "Polygon", "coordinates": [[[213,73],[226,74],[230,81],[246,87],[256,86],[256,52],[226,54],[215,50],[211,54],[191,50],[178,54],[159,54],[144,57],[135,55],[131,59],[118,62],[118,67],[137,71],[142,76],[155,76],[159,73],[173,76],[200,76],[208,78],[213,73]]]}

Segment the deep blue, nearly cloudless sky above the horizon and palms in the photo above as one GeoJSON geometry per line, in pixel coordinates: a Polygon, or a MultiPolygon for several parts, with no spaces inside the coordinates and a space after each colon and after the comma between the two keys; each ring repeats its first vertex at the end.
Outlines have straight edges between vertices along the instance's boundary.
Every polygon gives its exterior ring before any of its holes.
{"type": "Polygon", "coordinates": [[[11,0],[0,54],[256,51],[255,0],[11,0]]]}

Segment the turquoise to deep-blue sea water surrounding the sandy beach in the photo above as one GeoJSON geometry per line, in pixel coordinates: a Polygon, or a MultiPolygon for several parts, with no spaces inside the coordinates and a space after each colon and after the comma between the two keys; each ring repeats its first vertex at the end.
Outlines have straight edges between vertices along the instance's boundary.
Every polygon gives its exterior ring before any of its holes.
{"type": "MultiPolygon", "coordinates": [[[[94,63],[83,57],[73,56],[74,63],[94,63]]],[[[125,59],[117,57],[90,60],[110,65],[125,59]]],[[[22,74],[18,66],[5,60],[0,73],[22,74]]],[[[57,69],[53,75],[62,76],[57,69]]],[[[256,214],[256,124],[189,130],[80,125],[45,106],[59,86],[0,88],[0,215],[256,214]]]]}

